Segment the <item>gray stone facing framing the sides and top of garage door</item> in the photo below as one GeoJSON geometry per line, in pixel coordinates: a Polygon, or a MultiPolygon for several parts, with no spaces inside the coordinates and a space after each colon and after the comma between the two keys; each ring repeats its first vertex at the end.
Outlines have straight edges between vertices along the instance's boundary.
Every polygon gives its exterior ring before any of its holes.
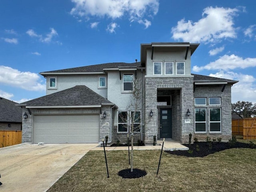
{"type": "MultiPolygon", "coordinates": [[[[33,136],[33,114],[100,114],[98,108],[54,108],[54,109],[30,109],[32,115],[28,113],[26,108],[22,108],[22,114],[27,112],[28,118],[24,119],[22,117],[22,143],[29,142],[32,143],[33,136]]],[[[105,139],[106,135],[110,135],[110,106],[102,106],[102,114],[100,114],[100,138],[99,142],[102,142],[102,138],[105,139]],[[106,111],[106,118],[103,117],[103,113],[106,111]]]]}

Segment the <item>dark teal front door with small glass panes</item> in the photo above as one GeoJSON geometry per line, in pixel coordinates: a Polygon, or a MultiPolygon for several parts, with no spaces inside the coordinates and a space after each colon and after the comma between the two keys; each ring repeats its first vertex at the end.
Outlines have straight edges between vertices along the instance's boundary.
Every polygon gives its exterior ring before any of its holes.
{"type": "Polygon", "coordinates": [[[160,138],[172,138],[172,109],[160,109],[160,138]]]}

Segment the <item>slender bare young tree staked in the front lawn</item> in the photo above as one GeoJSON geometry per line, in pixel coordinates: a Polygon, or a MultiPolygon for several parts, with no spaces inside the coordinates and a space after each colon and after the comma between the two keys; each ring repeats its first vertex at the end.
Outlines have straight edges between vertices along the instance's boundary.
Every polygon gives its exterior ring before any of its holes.
{"type": "Polygon", "coordinates": [[[134,136],[142,134],[142,81],[133,81],[133,91],[130,102],[126,107],[127,112],[118,112],[118,121],[123,122],[122,127],[128,130],[131,138],[131,172],[133,172],[133,141],[134,136]]]}

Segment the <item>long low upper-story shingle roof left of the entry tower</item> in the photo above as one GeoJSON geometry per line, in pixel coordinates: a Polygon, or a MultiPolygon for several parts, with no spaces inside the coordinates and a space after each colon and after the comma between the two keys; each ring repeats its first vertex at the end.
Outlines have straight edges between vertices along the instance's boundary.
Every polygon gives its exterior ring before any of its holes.
{"type": "Polygon", "coordinates": [[[140,67],[140,62],[136,63],[104,63],[98,65],[89,65],[83,67],[69,68],[69,69],[61,69],[54,71],[46,71],[42,73],[78,73],[78,72],[104,72],[104,68],[118,68],[119,66],[137,66],[140,67]]]}

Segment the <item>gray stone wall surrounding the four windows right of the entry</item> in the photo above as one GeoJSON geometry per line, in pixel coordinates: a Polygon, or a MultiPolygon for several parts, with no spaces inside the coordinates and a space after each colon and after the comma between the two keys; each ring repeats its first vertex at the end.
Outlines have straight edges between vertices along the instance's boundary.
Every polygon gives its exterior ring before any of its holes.
{"type": "MultiPolygon", "coordinates": [[[[221,92],[223,86],[197,86],[194,92],[194,97],[205,97],[206,106],[195,106],[195,108],[207,108],[206,114],[206,133],[194,133],[194,137],[200,141],[205,141],[205,138],[209,136],[211,139],[222,138],[226,141],[232,138],[232,115],[231,115],[231,86],[226,85],[223,92],[221,92]],[[221,105],[209,105],[209,97],[220,97],[221,105]],[[221,108],[221,132],[210,133],[210,114],[209,108],[221,108]]],[[[194,113],[194,112],[193,112],[194,113]]]]}

